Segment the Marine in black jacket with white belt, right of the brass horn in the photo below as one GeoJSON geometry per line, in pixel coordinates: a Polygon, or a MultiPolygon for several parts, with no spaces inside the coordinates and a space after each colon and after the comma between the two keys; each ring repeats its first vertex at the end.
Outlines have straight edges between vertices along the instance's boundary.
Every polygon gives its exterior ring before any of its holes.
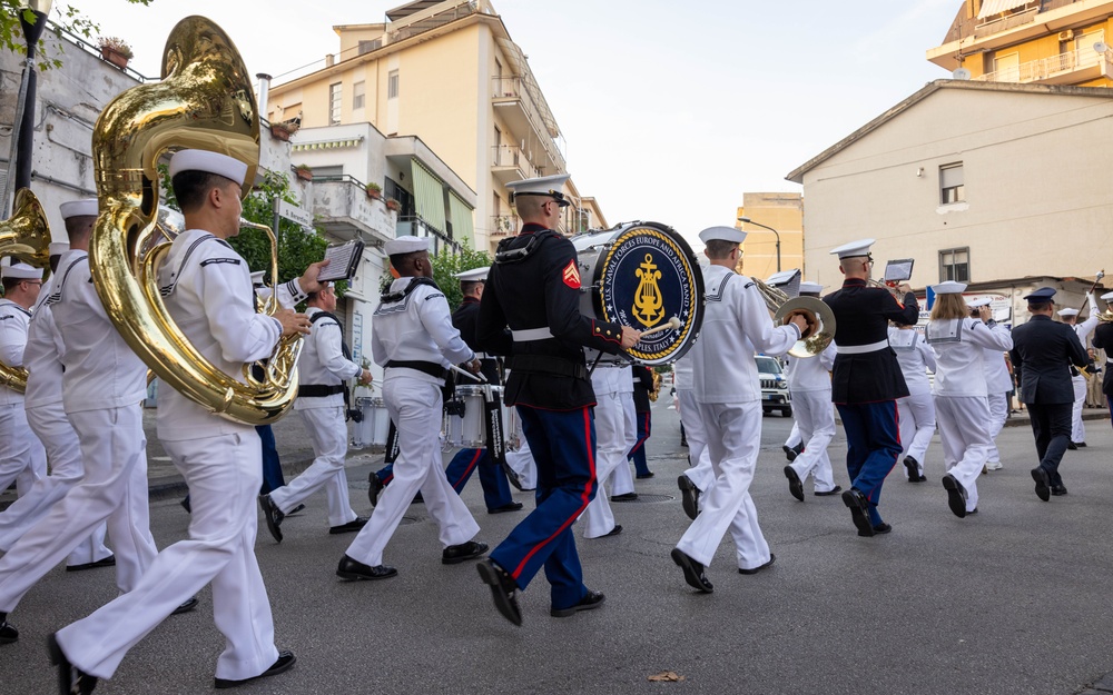
{"type": "Polygon", "coordinates": [[[908,395],[908,386],[889,347],[888,322],[915,324],[919,319],[919,306],[908,285],[897,288],[904,304],[893,294],[868,286],[873,244],[873,239],[863,239],[831,250],[838,255],[845,280],[841,289],[824,297],[838,324],[831,400],[846,431],[846,469],[851,485],[843,493],[843,503],[850,508],[859,536],[893,530],[881,520],[877,504],[885,476],[900,456],[896,400],[908,395]]]}

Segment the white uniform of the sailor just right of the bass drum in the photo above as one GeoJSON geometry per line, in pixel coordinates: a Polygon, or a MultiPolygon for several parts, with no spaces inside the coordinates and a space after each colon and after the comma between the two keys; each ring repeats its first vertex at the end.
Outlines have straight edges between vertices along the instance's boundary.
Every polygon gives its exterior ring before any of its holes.
{"type": "Polygon", "coordinates": [[[740,569],[769,562],[749,487],[761,446],[761,388],[754,354],[782,355],[800,337],[795,325],[774,327],[750,278],[703,268],[707,309],[692,347],[697,408],[707,430],[715,483],[700,496],[700,515],[677,547],[710,565],[729,529],[740,569]]]}

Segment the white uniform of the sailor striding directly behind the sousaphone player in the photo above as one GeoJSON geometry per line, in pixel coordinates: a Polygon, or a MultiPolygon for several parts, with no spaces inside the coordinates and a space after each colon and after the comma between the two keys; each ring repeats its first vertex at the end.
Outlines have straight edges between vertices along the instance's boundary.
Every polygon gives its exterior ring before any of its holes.
{"type": "MultiPolygon", "coordinates": [[[[92,287],[88,254],[62,254],[58,277],[57,289],[47,301],[65,346],[62,405],[81,443],[85,477],[0,559],[3,613],[12,610],[42,575],[106,519],[116,549],[116,585],[121,592],[136,587],[158,553],[147,508],[141,405],[147,394],[147,368],[108,319],[92,287]]],[[[88,642],[98,643],[104,637],[97,633],[88,642]]]]}

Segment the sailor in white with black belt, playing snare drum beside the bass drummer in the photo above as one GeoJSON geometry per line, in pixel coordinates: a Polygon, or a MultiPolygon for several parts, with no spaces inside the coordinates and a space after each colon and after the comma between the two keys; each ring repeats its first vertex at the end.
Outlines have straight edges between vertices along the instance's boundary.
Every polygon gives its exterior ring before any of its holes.
{"type": "Polygon", "coordinates": [[[398,278],[375,309],[372,357],[386,369],[383,400],[397,426],[401,453],[394,479],[336,568],[337,576],[349,580],[397,575],[383,564],[383,550],[418,490],[440,529],[442,563],[474,559],[487,549],[473,540],[479,524],[444,476],[440,443],[446,369],[465,363],[479,374],[480,360],[452,325],[449,302],[432,280],[429,238],[398,237],[384,250],[398,278]]]}

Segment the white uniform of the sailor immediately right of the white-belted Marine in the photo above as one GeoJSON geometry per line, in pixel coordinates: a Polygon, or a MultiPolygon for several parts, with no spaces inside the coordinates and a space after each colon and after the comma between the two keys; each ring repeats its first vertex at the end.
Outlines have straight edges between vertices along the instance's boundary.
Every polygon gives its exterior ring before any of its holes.
{"type": "Polygon", "coordinates": [[[900,374],[908,385],[908,396],[897,398],[897,417],[900,420],[900,443],[904,451],[900,460],[910,459],[905,464],[905,478],[908,477],[910,461],[915,461],[917,475],[924,475],[924,459],[927,447],[935,435],[935,398],[932,396],[932,383],[927,370],[936,370],[935,350],[914,328],[894,328],[889,326],[889,347],[896,353],[900,374]]]}

